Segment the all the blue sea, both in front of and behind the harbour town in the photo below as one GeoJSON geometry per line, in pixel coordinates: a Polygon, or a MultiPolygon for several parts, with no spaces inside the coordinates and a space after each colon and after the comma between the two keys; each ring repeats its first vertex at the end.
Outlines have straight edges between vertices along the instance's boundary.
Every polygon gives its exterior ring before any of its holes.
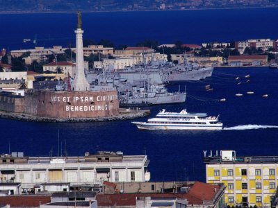
{"type": "MultiPolygon", "coordinates": [[[[229,42],[251,38],[277,39],[278,8],[242,10],[186,10],[167,12],[83,13],[84,39],[101,38],[135,45],[143,40],[170,44],[229,42]]],[[[30,49],[75,43],[74,13],[0,15],[0,48],[30,49]],[[51,39],[51,40],[49,40],[51,39]]],[[[151,107],[152,116],[165,108],[179,112],[206,112],[218,116],[224,130],[138,130],[131,121],[100,123],[32,123],[0,119],[0,153],[22,151],[30,156],[83,155],[86,151],[122,150],[125,155],[147,154],[154,180],[205,182],[203,150],[236,150],[236,155],[277,155],[278,71],[265,67],[218,68],[211,78],[179,82],[169,91],[186,91],[186,103],[151,107]],[[245,78],[250,74],[250,78],[245,78]],[[240,80],[236,80],[236,77],[240,80]],[[250,80],[250,82],[247,82],[250,80]],[[238,83],[241,85],[237,85],[238,83]],[[213,91],[207,92],[205,85],[213,91]],[[246,92],[254,92],[247,95],[246,92]],[[243,96],[237,97],[235,94],[243,96]],[[268,94],[267,98],[262,98],[268,94]],[[226,98],[226,102],[219,102],[226,98]],[[58,135],[59,131],[59,135],[58,135]],[[10,148],[9,148],[10,144],[10,148]]],[[[138,119],[146,121],[149,117],[138,119]]],[[[208,155],[208,153],[207,153],[208,155]]]]}

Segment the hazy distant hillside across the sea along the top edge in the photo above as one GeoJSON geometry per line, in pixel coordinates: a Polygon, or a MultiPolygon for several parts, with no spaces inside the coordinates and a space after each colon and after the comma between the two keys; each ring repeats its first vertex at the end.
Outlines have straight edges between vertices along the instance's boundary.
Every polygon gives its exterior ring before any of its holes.
{"type": "Polygon", "coordinates": [[[184,10],[278,6],[277,0],[0,0],[0,12],[184,10]]]}

